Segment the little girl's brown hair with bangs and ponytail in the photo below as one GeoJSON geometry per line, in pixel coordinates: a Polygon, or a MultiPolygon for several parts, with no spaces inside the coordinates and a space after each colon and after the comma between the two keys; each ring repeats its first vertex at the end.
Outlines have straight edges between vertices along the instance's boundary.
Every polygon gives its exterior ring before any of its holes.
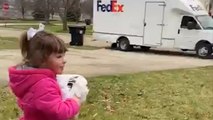
{"type": "Polygon", "coordinates": [[[20,39],[23,63],[32,67],[39,67],[52,53],[65,53],[67,48],[60,38],[51,33],[40,31],[30,40],[27,33],[20,39]]]}

